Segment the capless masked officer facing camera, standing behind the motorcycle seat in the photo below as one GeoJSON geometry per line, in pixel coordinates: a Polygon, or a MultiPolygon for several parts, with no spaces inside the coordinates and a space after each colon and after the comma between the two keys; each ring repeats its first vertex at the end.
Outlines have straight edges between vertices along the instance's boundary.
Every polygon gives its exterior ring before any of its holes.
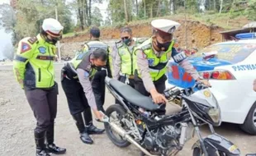
{"type": "Polygon", "coordinates": [[[114,79],[135,88],[134,69],[136,61],[133,60],[133,52],[136,45],[142,41],[132,36],[132,30],[129,27],[121,29],[121,40],[116,42],[113,48],[116,53],[114,62],[114,79]]]}

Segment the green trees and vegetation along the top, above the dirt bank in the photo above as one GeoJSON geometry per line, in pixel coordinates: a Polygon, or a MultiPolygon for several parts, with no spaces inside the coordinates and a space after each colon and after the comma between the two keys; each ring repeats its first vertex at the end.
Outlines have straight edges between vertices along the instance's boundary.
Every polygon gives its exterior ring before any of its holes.
{"type": "Polygon", "coordinates": [[[120,28],[159,17],[200,21],[225,29],[238,29],[248,19],[256,20],[256,0],[18,0],[17,6],[0,5],[0,27],[12,32],[12,44],[16,45],[21,38],[39,33],[42,21],[55,18],[56,10],[64,25],[64,37],[83,34],[92,25],[120,28]],[[101,3],[107,4],[107,9],[101,10],[101,3]],[[107,14],[104,19],[102,11],[107,14]]]}

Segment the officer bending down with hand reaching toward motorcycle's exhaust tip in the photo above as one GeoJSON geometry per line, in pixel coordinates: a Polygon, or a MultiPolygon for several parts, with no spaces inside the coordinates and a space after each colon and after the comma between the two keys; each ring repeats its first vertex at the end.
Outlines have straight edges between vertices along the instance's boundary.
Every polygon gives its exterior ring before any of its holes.
{"type": "Polygon", "coordinates": [[[62,69],[61,85],[68,100],[69,111],[78,127],[80,139],[85,144],[93,144],[89,135],[102,134],[105,131],[92,124],[91,108],[97,119],[101,119],[102,114],[97,110],[91,81],[97,70],[105,67],[106,63],[106,50],[95,48],[73,57],[62,69]]]}

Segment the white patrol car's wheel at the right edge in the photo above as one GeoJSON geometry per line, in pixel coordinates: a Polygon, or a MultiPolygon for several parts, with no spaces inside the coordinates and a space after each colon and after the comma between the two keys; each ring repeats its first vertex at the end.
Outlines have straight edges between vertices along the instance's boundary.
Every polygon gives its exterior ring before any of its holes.
{"type": "Polygon", "coordinates": [[[256,103],[254,103],[253,107],[249,110],[244,124],[240,127],[250,135],[256,135],[256,103]]]}

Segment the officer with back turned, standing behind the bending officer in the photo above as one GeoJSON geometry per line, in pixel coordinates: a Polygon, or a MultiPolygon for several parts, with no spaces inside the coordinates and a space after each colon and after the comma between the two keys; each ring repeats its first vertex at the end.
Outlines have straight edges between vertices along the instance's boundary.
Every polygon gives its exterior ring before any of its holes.
{"type": "MultiPolygon", "coordinates": [[[[97,71],[92,79],[92,90],[96,99],[97,109],[99,111],[105,112],[103,104],[105,103],[105,77],[111,76],[111,50],[109,46],[100,41],[101,31],[93,26],[90,29],[90,40],[88,43],[84,44],[83,53],[88,53],[89,50],[95,48],[103,48],[107,51],[107,66],[102,68],[101,71],[97,71]]],[[[97,119],[98,121],[98,119],[97,119]]],[[[99,121],[98,121],[99,122],[99,121]]]]}

